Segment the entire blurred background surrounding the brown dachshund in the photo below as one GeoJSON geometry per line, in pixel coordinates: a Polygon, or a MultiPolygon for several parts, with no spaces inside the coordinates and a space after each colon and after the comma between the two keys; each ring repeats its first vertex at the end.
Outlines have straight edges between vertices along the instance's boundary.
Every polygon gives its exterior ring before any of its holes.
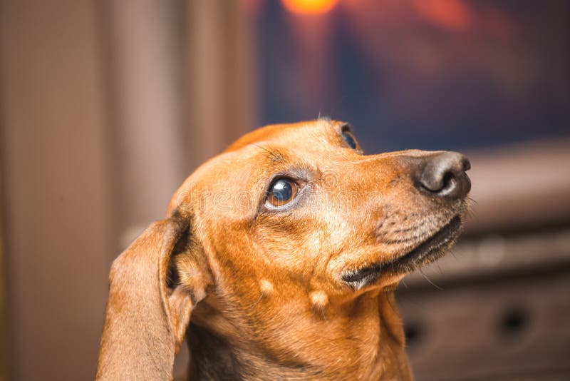
{"type": "Polygon", "coordinates": [[[235,138],[318,116],[471,159],[465,235],[398,290],[417,379],[569,380],[569,11],[0,0],[0,380],[92,379],[113,258],[235,138]]]}

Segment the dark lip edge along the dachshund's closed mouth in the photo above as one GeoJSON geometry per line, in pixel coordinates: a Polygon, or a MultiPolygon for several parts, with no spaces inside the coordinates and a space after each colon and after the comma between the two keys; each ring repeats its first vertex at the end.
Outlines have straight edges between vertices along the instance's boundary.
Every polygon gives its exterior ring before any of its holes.
{"type": "MultiPolygon", "coordinates": [[[[405,270],[413,270],[409,263],[413,260],[424,260],[432,254],[435,254],[434,258],[437,258],[437,254],[440,254],[439,249],[445,244],[449,243],[450,240],[457,237],[461,229],[461,217],[460,215],[455,215],[447,224],[445,224],[437,233],[424,240],[418,246],[408,253],[386,263],[375,263],[374,265],[368,266],[366,268],[360,268],[358,270],[349,270],[343,273],[342,280],[346,283],[363,283],[371,282],[377,280],[380,277],[383,269],[386,269],[390,273],[401,273],[405,270]]],[[[415,268],[415,266],[413,266],[415,268]]]]}

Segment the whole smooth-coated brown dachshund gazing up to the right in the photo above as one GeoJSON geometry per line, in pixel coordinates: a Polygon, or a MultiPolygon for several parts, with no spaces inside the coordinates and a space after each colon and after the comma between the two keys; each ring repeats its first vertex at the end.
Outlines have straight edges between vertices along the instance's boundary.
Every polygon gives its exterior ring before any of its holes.
{"type": "Polygon", "coordinates": [[[411,380],[393,290],[455,242],[470,163],[365,156],[346,123],[268,126],[212,158],[113,263],[100,380],[411,380]]]}

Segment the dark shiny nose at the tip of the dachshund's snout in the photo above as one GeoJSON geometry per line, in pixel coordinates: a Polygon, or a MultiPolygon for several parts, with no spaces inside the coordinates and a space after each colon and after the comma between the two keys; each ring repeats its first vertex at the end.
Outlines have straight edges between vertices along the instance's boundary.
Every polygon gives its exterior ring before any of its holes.
{"type": "Polygon", "coordinates": [[[442,198],[462,198],[471,190],[469,160],[461,153],[442,152],[423,158],[416,173],[416,187],[442,198]]]}

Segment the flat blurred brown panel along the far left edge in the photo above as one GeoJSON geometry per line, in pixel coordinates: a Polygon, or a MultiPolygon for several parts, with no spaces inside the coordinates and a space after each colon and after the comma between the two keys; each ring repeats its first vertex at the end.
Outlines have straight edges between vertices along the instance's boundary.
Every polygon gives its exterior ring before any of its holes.
{"type": "Polygon", "coordinates": [[[93,1],[2,1],[11,380],[95,374],[113,205],[93,1]]]}

